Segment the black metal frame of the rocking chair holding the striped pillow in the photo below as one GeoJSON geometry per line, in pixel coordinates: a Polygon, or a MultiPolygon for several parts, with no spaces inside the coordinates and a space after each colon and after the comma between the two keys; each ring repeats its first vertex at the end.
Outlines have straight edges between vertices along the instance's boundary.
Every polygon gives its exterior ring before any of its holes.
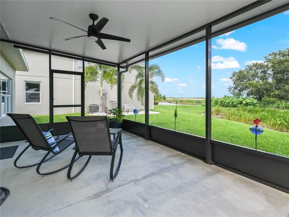
{"type": "MultiPolygon", "coordinates": [[[[12,115],[10,115],[10,113],[8,113],[7,115],[8,115],[12,120],[15,120],[15,119],[32,119],[32,121],[34,122],[34,124],[37,126],[38,130],[41,132],[41,135],[42,135],[43,139],[44,139],[44,140],[46,141],[46,143],[47,143],[47,149],[41,148],[41,147],[38,147],[38,146],[33,146],[33,143],[29,140],[29,137],[25,134],[25,132],[24,132],[24,131],[22,130],[22,128],[19,126],[19,124],[17,123],[17,121],[14,121],[14,123],[17,125],[18,129],[21,131],[21,133],[22,133],[22,134],[24,135],[24,137],[27,139],[27,141],[25,141],[25,142],[26,142],[26,143],[27,143],[27,142],[29,143],[29,145],[28,145],[25,149],[23,149],[23,151],[22,151],[22,152],[17,156],[17,158],[14,160],[14,166],[15,166],[16,168],[22,169],[22,168],[28,168],[28,167],[33,167],[33,166],[38,165],[37,168],[36,168],[37,174],[44,176],[44,175],[50,175],[50,174],[59,172],[59,171],[61,171],[61,170],[64,170],[65,168],[69,167],[70,164],[68,164],[68,165],[66,165],[66,166],[64,166],[64,167],[62,167],[62,168],[60,168],[60,169],[51,171],[51,172],[41,173],[41,172],[39,171],[41,165],[42,165],[44,162],[46,162],[46,161],[52,159],[53,157],[55,157],[56,155],[60,154],[60,153],[63,152],[66,148],[68,148],[69,146],[71,146],[71,144],[74,143],[74,141],[71,142],[69,145],[67,145],[67,147],[65,147],[64,149],[60,150],[59,152],[54,152],[54,151],[53,151],[53,149],[54,149],[56,146],[58,146],[62,141],[64,141],[66,138],[68,138],[68,137],[72,134],[71,132],[70,132],[69,134],[65,135],[64,137],[62,137],[61,139],[55,141],[54,143],[49,144],[49,143],[47,142],[46,138],[44,137],[44,135],[42,134],[42,131],[41,131],[39,125],[36,123],[36,121],[34,120],[34,118],[33,118],[31,115],[28,115],[27,118],[14,118],[12,115]],[[42,160],[41,160],[40,162],[38,162],[38,163],[34,163],[34,164],[31,164],[31,165],[25,165],[25,166],[18,166],[18,165],[17,165],[17,161],[20,159],[20,157],[24,154],[24,152],[25,152],[30,146],[31,146],[31,148],[33,148],[34,150],[44,150],[44,151],[47,151],[47,153],[46,153],[46,155],[42,158],[42,160]],[[53,155],[50,156],[49,158],[47,158],[47,156],[48,156],[50,153],[52,153],[53,155]],[[47,158],[47,159],[46,159],[46,158],[47,158]]],[[[51,131],[54,131],[54,133],[55,133],[56,136],[57,136],[56,138],[59,137],[59,135],[58,135],[58,133],[55,131],[55,129],[52,128],[52,129],[50,129],[48,132],[51,132],[51,131]]],[[[78,159],[80,159],[80,156],[78,156],[78,157],[75,159],[75,161],[77,161],[78,159]]],[[[75,162],[75,161],[74,161],[74,162],[75,162]]]]}

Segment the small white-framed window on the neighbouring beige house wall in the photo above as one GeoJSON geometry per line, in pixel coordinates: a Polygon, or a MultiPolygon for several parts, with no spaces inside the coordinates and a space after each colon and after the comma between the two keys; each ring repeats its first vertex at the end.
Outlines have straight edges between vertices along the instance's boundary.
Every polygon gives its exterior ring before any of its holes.
{"type": "Polygon", "coordinates": [[[40,103],[40,82],[25,81],[25,103],[40,103]]]}

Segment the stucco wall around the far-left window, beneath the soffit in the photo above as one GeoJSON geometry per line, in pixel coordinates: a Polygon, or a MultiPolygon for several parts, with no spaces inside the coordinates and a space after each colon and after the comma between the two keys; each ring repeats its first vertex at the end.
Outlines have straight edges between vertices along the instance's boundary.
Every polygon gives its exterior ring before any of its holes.
{"type": "MultiPolygon", "coordinates": [[[[1,73],[4,74],[6,77],[11,79],[11,92],[10,92],[10,108],[11,112],[15,112],[15,69],[12,65],[5,59],[5,57],[0,54],[0,70],[1,73]]],[[[10,117],[5,115],[4,117],[0,118],[0,126],[9,126],[12,125],[13,121],[10,117]]]]}

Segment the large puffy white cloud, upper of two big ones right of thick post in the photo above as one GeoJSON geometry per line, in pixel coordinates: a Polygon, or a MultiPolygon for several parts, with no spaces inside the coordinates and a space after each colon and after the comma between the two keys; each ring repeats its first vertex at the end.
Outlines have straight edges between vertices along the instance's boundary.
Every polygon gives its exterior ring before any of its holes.
{"type": "Polygon", "coordinates": [[[212,45],[212,48],[215,49],[229,49],[229,50],[238,50],[245,52],[247,51],[247,45],[245,42],[240,42],[238,40],[235,40],[233,38],[227,38],[227,39],[222,39],[219,38],[216,40],[217,45],[212,45]]]}

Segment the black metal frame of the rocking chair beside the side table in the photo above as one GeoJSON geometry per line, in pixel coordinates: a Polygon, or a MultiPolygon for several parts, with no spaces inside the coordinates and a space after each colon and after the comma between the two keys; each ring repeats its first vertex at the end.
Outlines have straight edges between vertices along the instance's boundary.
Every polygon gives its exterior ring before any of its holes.
{"type": "MultiPolygon", "coordinates": [[[[68,168],[68,172],[67,172],[67,178],[72,181],[73,179],[75,179],[77,176],[79,176],[83,171],[84,169],[86,168],[86,166],[88,165],[88,163],[90,162],[90,159],[92,156],[103,156],[103,155],[110,155],[112,156],[112,160],[111,160],[111,164],[110,164],[110,172],[109,172],[109,178],[111,181],[114,181],[114,179],[117,177],[118,175],[118,172],[119,172],[119,169],[121,167],[121,160],[122,160],[122,155],[123,155],[123,147],[122,147],[122,140],[121,140],[121,129],[119,129],[117,133],[117,136],[115,138],[115,142],[114,144],[112,145],[112,141],[111,141],[111,138],[109,138],[109,141],[110,141],[110,146],[111,146],[111,152],[79,152],[78,150],[78,146],[77,146],[77,141],[75,139],[75,135],[74,135],[74,132],[72,130],[72,126],[71,126],[71,120],[69,119],[68,116],[66,116],[66,119],[68,120],[68,123],[71,127],[71,131],[72,131],[72,135],[74,137],[74,141],[75,141],[75,146],[76,146],[76,149],[75,149],[75,152],[74,152],[74,155],[72,156],[72,159],[71,159],[71,163],[69,165],[69,168],[68,168]],[[118,166],[116,168],[116,171],[115,173],[113,173],[113,168],[114,168],[114,162],[115,162],[115,154],[116,154],[116,150],[117,150],[117,147],[118,147],[118,144],[120,146],[120,149],[121,149],[121,153],[120,153],[120,157],[119,157],[119,161],[118,161],[118,166]],[[74,176],[71,176],[71,170],[72,170],[72,167],[73,167],[73,164],[75,162],[75,158],[76,158],[76,155],[82,157],[82,156],[89,156],[86,163],[83,165],[83,167],[80,169],[79,172],[77,172],[76,175],[74,176]]],[[[106,119],[107,120],[107,119],[106,119]]],[[[77,120],[72,120],[72,121],[76,121],[76,122],[94,122],[94,121],[90,121],[90,120],[87,120],[87,121],[77,121],[77,120]]],[[[108,124],[108,120],[107,120],[107,124],[108,124]]],[[[108,127],[108,135],[110,137],[110,131],[109,131],[109,127],[108,127]]]]}

